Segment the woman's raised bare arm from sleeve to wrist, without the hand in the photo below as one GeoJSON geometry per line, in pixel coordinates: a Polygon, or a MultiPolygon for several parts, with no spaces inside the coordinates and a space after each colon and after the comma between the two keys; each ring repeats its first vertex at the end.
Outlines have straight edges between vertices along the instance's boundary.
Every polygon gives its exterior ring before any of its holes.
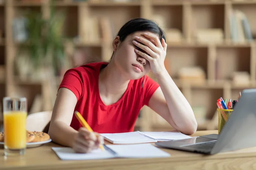
{"type": "Polygon", "coordinates": [[[159,75],[157,80],[160,87],[151,96],[148,106],[181,133],[195,133],[197,122],[192,108],[168,72],[159,75]]]}

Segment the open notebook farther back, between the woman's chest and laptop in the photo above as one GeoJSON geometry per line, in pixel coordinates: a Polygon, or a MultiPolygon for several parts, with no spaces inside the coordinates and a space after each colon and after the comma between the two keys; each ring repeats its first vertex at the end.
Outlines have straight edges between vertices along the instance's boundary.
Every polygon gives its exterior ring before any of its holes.
{"type": "Polygon", "coordinates": [[[113,144],[136,144],[162,142],[169,140],[188,139],[190,136],[178,131],[171,132],[127,132],[127,133],[100,133],[106,141],[113,144]]]}

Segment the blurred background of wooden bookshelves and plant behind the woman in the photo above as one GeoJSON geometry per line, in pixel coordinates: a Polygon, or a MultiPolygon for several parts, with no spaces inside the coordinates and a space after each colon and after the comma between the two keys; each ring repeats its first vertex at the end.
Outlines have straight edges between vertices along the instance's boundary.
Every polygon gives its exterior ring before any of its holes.
{"type": "MultiPolygon", "coordinates": [[[[256,88],[255,16],[256,0],[0,0],[0,99],[51,111],[65,71],[108,61],[119,28],[145,17],[166,33],[165,65],[198,130],[218,129],[217,99],[256,88]]],[[[171,128],[145,107],[135,130],[171,128]]]]}

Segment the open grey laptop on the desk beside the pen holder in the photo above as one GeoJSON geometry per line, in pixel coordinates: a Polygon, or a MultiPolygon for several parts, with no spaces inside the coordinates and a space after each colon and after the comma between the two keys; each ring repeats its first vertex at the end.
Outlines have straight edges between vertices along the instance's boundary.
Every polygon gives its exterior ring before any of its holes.
{"type": "Polygon", "coordinates": [[[242,91],[239,102],[219,135],[210,134],[175,141],[156,142],[159,147],[216,154],[256,146],[256,89],[242,91]]]}

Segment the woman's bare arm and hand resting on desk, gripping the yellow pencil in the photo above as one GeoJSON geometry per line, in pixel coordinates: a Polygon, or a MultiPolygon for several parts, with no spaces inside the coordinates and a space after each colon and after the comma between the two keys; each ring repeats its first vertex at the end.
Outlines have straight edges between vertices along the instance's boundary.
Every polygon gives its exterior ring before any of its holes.
{"type": "Polygon", "coordinates": [[[48,134],[52,141],[72,147],[76,152],[86,153],[99,147],[104,139],[102,136],[97,138],[83,127],[79,131],[70,127],[76,102],[76,95],[72,91],[67,88],[58,90],[48,134]]]}

